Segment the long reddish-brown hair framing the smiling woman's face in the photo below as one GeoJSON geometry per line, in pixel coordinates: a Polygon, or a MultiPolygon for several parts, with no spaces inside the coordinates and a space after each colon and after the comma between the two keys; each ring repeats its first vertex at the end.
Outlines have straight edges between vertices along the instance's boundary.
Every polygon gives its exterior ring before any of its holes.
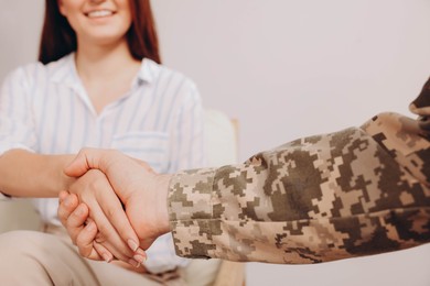
{"type": "MultiPolygon", "coordinates": [[[[131,26],[127,32],[127,42],[133,58],[150,58],[161,64],[159,40],[150,0],[129,0],[131,26]]],[[[62,15],[57,0],[45,0],[39,61],[47,64],[76,52],[76,33],[62,15]]]]}

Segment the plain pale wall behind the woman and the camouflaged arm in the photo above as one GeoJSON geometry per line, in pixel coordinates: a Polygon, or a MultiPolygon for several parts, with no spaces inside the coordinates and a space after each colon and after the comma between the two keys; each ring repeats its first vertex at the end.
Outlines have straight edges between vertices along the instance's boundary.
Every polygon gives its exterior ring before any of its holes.
{"type": "MultiPolygon", "coordinates": [[[[36,59],[42,0],[0,0],[0,79],[36,59]]],[[[410,114],[430,75],[430,0],[152,0],[163,62],[239,120],[239,157],[410,114]]],[[[410,114],[411,116],[411,114],[410,114]]],[[[321,265],[249,263],[247,285],[430,285],[430,245],[321,265]]]]}

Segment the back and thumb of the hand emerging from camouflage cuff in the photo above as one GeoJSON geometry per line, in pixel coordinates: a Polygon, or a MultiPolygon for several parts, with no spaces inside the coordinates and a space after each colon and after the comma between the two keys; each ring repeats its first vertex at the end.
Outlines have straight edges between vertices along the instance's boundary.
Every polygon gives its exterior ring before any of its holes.
{"type": "MultiPolygon", "coordinates": [[[[170,175],[158,175],[147,164],[118,151],[96,148],[82,150],[65,173],[71,177],[79,177],[92,169],[101,170],[109,179],[115,193],[126,207],[127,217],[143,250],[147,250],[158,237],[170,231],[166,204],[170,175]]],[[[97,186],[99,187],[101,186],[97,186]]],[[[99,199],[106,200],[104,196],[99,199]]],[[[106,206],[106,204],[100,204],[100,206],[106,206]]],[[[63,207],[60,206],[60,209],[63,207]]],[[[92,207],[88,207],[92,210],[92,207]]],[[[121,226],[123,221],[121,213],[110,211],[107,215],[106,217],[118,230],[120,237],[129,238],[127,229],[121,226]]],[[[96,221],[99,229],[108,228],[107,221],[103,221],[103,226],[99,223],[96,221]]]]}

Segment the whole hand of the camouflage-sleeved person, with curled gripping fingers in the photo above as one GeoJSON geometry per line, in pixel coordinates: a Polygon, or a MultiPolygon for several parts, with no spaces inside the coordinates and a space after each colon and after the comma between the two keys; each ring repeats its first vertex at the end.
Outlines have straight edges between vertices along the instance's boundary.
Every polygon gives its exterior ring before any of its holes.
{"type": "MultiPolygon", "coordinates": [[[[84,148],[65,169],[65,174],[71,177],[87,176],[93,172],[98,174],[101,172],[108,177],[114,190],[123,204],[127,217],[140,238],[140,246],[143,250],[147,250],[158,237],[169,232],[169,215],[165,202],[170,175],[155,174],[147,164],[125,156],[117,151],[95,148],[84,148]],[[146,219],[141,220],[141,218],[146,219]]],[[[118,219],[116,216],[123,215],[122,207],[111,204],[114,200],[105,196],[103,188],[94,188],[94,193],[100,194],[98,197],[99,206],[105,213],[109,213],[108,219],[111,220],[110,223],[114,228],[119,230],[122,219],[118,219]]],[[[100,239],[97,237],[99,235],[97,227],[93,223],[84,226],[88,208],[92,208],[87,207],[86,204],[78,205],[75,195],[68,196],[68,194],[62,193],[60,199],[64,204],[61,204],[58,208],[58,217],[72,240],[78,245],[79,252],[84,256],[98,260],[97,249],[93,249],[93,241],[100,239]]],[[[100,224],[97,223],[97,226],[100,224]]],[[[103,233],[108,233],[108,230],[103,231],[103,233]]],[[[103,240],[110,242],[108,237],[103,240]]],[[[111,241],[109,250],[122,249],[120,244],[119,241],[111,241]]],[[[107,255],[106,250],[104,253],[107,255]]],[[[125,261],[122,255],[115,256],[125,261]]]]}

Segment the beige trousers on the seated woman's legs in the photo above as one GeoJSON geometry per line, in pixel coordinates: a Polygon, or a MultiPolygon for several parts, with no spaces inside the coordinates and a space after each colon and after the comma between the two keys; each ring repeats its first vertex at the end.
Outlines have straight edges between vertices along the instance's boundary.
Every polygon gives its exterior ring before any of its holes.
{"type": "Polygon", "coordinates": [[[133,273],[83,258],[60,227],[0,234],[1,285],[212,285],[219,261],[192,261],[171,275],[133,273]]]}

